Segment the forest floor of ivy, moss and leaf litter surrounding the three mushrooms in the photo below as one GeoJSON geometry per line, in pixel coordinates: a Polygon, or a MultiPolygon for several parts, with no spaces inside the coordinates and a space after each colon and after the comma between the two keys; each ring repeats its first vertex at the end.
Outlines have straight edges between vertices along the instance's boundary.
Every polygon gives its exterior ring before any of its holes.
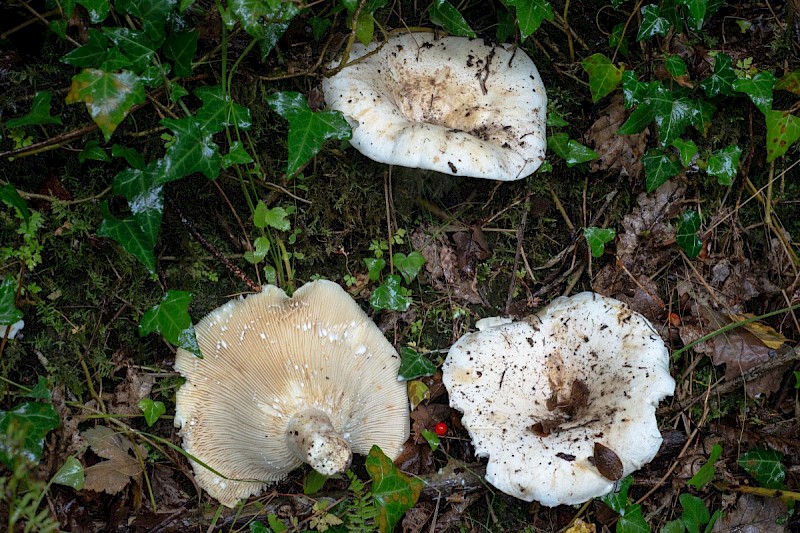
{"type": "MultiPolygon", "coordinates": [[[[30,9],[38,6],[4,6],[0,303],[3,324],[24,319],[2,344],[0,516],[11,528],[797,527],[796,5],[725,5],[711,14],[710,3],[685,2],[678,9],[687,19],[675,23],[655,4],[637,11],[620,3],[602,8],[609,24],[583,16],[599,5],[580,13],[567,4],[556,14],[561,7],[546,2],[466,3],[461,27],[447,2],[406,4],[343,1],[338,15],[327,5],[287,14],[294,21],[266,52],[263,34],[250,48],[257,27],[242,20],[228,32],[214,9],[194,6],[185,20],[198,30],[195,60],[218,60],[222,49],[231,62],[243,56],[230,96],[207,84],[219,70],[181,59],[191,32],[165,34],[151,18],[159,15],[117,6],[128,10],[127,30],[143,32],[129,34],[78,7],[62,39],[37,26],[30,9]],[[544,10],[540,28],[525,9],[544,10]],[[549,165],[512,183],[466,180],[372,163],[347,148],[344,133],[325,131],[328,116],[309,114],[322,108],[320,75],[369,20],[386,29],[471,27],[520,42],[550,98],[549,165]],[[158,53],[180,83],[145,87],[122,75],[144,79],[154,57],[134,52],[131,35],[168,37],[158,53]],[[86,59],[75,54],[59,64],[81,44],[108,54],[102,68],[82,72],[86,59]],[[603,57],[592,55],[598,49],[603,57]],[[130,83],[130,116],[92,113],[92,121],[80,102],[103,96],[90,87],[113,83],[130,83]],[[177,103],[181,90],[198,88],[177,103]],[[181,120],[197,109],[196,122],[181,120]],[[287,167],[295,120],[311,120],[328,141],[307,166],[290,156],[287,167]],[[231,124],[239,140],[222,144],[231,124]],[[189,154],[185,167],[147,181],[181,154],[189,154]],[[234,172],[255,154],[252,181],[234,172]],[[125,172],[130,179],[109,190],[125,172]],[[592,242],[589,227],[616,237],[592,242]],[[121,246],[125,228],[141,231],[136,242],[145,246],[121,246]],[[424,263],[409,260],[414,253],[424,263]],[[370,453],[324,484],[299,470],[243,508],[217,508],[198,497],[172,427],[180,380],[170,334],[178,339],[188,327],[180,310],[197,321],[253,286],[274,280],[291,290],[316,276],[346,287],[404,357],[422,355],[410,366],[430,371],[408,384],[414,409],[399,470],[370,453]],[[581,290],[626,302],[670,347],[678,386],[657,411],[663,444],[619,493],[580,508],[525,504],[482,479],[485,466],[437,368],[477,319],[523,318],[581,290]],[[157,305],[181,318],[143,320],[157,305]],[[393,483],[406,491],[399,498],[416,500],[405,514],[386,490],[393,483]]],[[[39,14],[62,20],[58,11],[39,14]]]]}

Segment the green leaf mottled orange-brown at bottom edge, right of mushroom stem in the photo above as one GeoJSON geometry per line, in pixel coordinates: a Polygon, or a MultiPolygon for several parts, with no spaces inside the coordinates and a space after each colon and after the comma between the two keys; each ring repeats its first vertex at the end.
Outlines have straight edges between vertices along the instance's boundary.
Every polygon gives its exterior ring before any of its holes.
{"type": "Polygon", "coordinates": [[[364,467],[372,479],[372,498],[378,510],[376,520],[379,531],[390,533],[405,512],[417,503],[422,492],[422,481],[401,472],[377,446],[369,451],[364,467]]]}

